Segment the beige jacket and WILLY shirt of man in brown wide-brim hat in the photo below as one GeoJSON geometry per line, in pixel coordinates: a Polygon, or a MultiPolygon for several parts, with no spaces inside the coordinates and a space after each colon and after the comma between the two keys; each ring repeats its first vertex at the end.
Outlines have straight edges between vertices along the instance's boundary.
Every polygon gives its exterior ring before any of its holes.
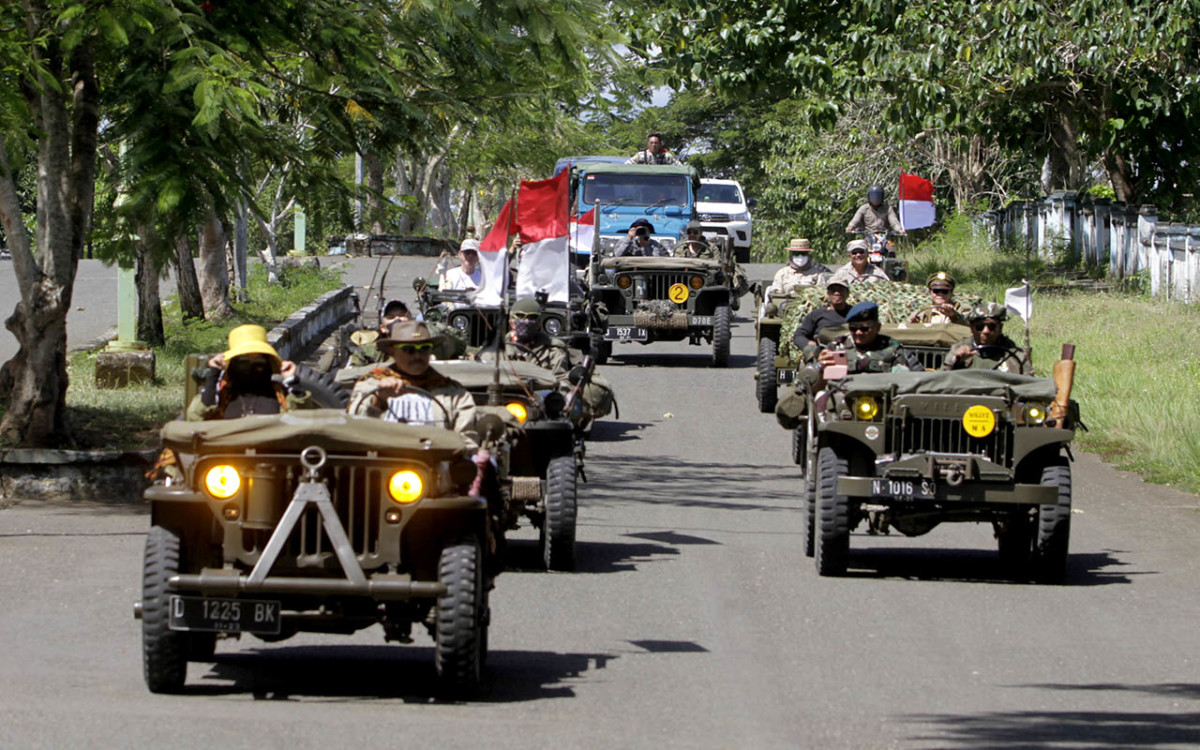
{"type": "Polygon", "coordinates": [[[432,367],[419,377],[404,374],[391,366],[376,367],[354,384],[346,409],[350,414],[378,416],[385,421],[446,427],[461,434],[472,450],[479,448],[474,434],[475,400],[457,380],[432,367]],[[384,378],[400,378],[414,390],[385,398],[379,394],[379,382],[384,378]]]}

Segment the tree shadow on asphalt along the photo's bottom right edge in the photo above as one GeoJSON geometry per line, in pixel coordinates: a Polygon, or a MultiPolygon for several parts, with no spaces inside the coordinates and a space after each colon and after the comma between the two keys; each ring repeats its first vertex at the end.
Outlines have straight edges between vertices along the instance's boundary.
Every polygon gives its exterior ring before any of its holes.
{"type": "Polygon", "coordinates": [[[1200,745],[1200,713],[1004,712],[967,716],[913,715],[940,732],[911,737],[926,748],[1192,748],[1200,745]]]}

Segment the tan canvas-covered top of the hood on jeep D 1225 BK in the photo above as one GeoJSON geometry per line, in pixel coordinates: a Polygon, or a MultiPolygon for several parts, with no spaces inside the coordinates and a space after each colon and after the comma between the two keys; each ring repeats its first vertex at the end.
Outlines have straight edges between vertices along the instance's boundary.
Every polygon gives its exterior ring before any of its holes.
{"type": "Polygon", "coordinates": [[[319,445],[331,454],[410,457],[421,454],[443,461],[466,451],[458,433],[355,416],[337,409],[299,409],[203,422],[173,421],[162,428],[163,446],[181,454],[203,450],[302,450],[319,445]]]}

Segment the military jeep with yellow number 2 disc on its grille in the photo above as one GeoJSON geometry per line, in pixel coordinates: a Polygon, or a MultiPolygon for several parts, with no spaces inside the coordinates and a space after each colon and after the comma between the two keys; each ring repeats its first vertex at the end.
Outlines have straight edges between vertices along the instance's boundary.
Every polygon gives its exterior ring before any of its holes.
{"type": "MultiPolygon", "coordinates": [[[[677,245],[680,248],[682,242],[677,245]]],[[[593,260],[588,296],[607,311],[592,330],[592,354],[604,364],[612,342],[684,341],[713,344],[713,366],[730,362],[733,323],[731,266],[710,258],[619,257],[593,260]]]]}

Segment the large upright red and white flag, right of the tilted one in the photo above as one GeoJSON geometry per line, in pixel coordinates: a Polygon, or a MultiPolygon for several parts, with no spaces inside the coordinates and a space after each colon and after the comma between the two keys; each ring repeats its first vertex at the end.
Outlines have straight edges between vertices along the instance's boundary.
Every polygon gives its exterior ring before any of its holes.
{"type": "Polygon", "coordinates": [[[521,268],[517,270],[517,299],[545,292],[551,302],[570,298],[570,234],[568,204],[570,173],[535,182],[521,182],[517,190],[517,228],[521,233],[521,268]]]}

